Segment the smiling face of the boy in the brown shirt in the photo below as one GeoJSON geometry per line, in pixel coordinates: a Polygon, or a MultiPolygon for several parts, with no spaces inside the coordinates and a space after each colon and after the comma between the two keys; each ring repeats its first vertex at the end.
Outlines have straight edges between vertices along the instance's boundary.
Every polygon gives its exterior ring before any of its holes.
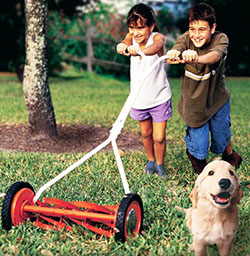
{"type": "Polygon", "coordinates": [[[212,28],[210,28],[207,21],[195,20],[189,23],[189,38],[191,39],[195,47],[200,48],[210,42],[211,36],[214,33],[215,28],[215,23],[213,24],[212,28]]]}

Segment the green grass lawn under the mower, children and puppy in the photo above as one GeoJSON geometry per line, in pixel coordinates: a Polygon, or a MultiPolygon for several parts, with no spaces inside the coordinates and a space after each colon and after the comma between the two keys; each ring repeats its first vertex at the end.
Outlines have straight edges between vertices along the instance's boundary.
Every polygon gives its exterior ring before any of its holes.
{"type": "MultiPolygon", "coordinates": [[[[175,205],[189,207],[189,194],[196,175],[185,155],[184,123],[177,112],[180,80],[170,79],[173,92],[173,117],[167,127],[165,165],[169,179],[145,176],[144,152],[128,151],[122,157],[130,190],[144,204],[142,236],[120,244],[114,238],[98,237],[75,226],[72,233],[43,231],[32,223],[13,227],[8,233],[0,227],[0,256],[3,255],[193,255],[188,245],[192,237],[185,216],[175,205]]],[[[232,255],[250,252],[250,79],[227,79],[231,91],[232,141],[244,162],[237,171],[244,197],[239,205],[240,226],[232,255]]],[[[128,81],[86,73],[64,73],[50,79],[57,123],[97,124],[110,127],[118,116],[129,92],[128,81]]],[[[0,79],[0,125],[27,123],[22,87],[13,77],[0,79]]],[[[125,129],[139,132],[129,117],[125,129]]],[[[100,142],[101,143],[101,142],[100,142]]],[[[73,164],[83,154],[46,154],[0,152],[0,193],[18,180],[28,181],[37,191],[44,183],[73,164]]],[[[209,153],[209,161],[215,157],[209,153]]],[[[113,153],[100,152],[64,179],[45,191],[43,196],[64,200],[85,200],[98,204],[118,204],[124,195],[113,153]]],[[[2,204],[0,198],[0,204],[2,204]]],[[[209,255],[218,255],[210,246],[209,255]]]]}

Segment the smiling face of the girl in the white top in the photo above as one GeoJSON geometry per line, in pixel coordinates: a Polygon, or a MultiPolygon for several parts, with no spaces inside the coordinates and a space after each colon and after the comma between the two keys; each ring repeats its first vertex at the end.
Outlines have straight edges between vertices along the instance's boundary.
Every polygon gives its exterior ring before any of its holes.
{"type": "Polygon", "coordinates": [[[130,23],[128,27],[128,32],[130,36],[135,40],[136,43],[139,44],[141,48],[144,48],[146,46],[148,38],[155,26],[155,24],[153,24],[149,27],[145,25],[145,23],[146,22],[143,22],[142,24],[140,19],[138,19],[136,23],[130,23]]]}

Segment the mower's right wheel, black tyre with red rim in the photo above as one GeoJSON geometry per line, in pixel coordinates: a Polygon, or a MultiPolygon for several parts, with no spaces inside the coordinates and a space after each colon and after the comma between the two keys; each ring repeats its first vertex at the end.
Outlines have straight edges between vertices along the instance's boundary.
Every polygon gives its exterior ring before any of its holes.
{"type": "Polygon", "coordinates": [[[125,242],[128,237],[140,234],[143,226],[143,204],[139,195],[126,194],[116,215],[115,240],[125,242]]]}

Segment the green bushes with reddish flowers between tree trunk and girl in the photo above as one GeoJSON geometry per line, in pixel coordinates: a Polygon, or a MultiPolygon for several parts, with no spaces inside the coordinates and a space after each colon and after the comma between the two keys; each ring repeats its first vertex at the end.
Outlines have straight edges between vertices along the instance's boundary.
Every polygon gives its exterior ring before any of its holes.
{"type": "MultiPolygon", "coordinates": [[[[116,53],[116,44],[124,36],[126,25],[121,17],[109,13],[107,5],[99,4],[99,8],[87,14],[65,17],[57,12],[50,12],[48,27],[48,58],[49,70],[60,71],[63,55],[68,53],[77,58],[87,55],[87,28],[94,28],[94,37],[106,39],[100,42],[94,41],[94,57],[118,63],[129,63],[129,58],[116,53]],[[74,36],[85,37],[85,41],[74,39],[74,36]],[[65,38],[66,37],[66,38],[65,38]]],[[[71,62],[75,67],[86,68],[86,64],[71,62]]],[[[117,71],[95,66],[96,73],[117,74],[117,71]]],[[[119,75],[127,76],[128,71],[121,71],[119,75]]]]}

